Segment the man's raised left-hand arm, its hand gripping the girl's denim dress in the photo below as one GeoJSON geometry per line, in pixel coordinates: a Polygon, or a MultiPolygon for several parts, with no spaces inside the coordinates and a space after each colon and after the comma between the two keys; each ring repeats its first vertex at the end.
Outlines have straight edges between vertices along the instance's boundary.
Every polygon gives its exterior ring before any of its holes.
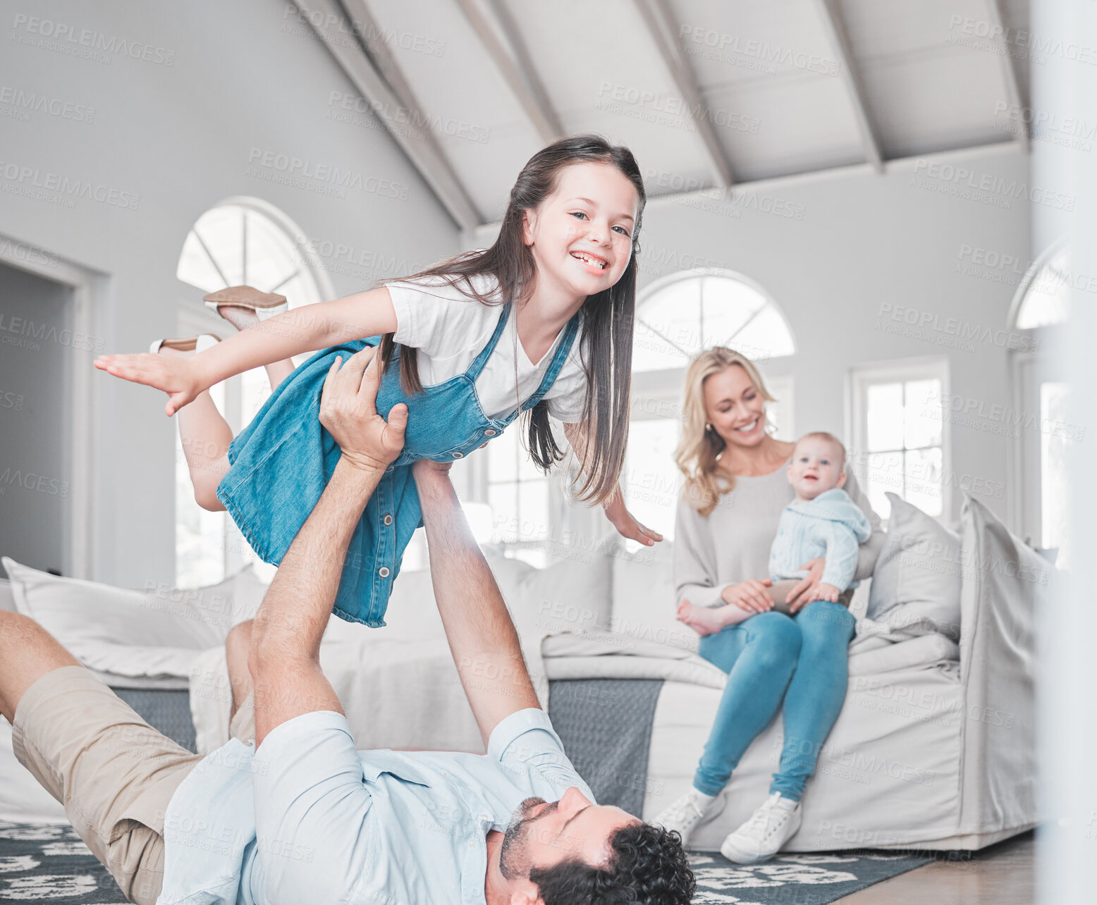
{"type": "Polygon", "coordinates": [[[389,421],[377,415],[374,350],[331,366],[320,398],[320,423],[342,450],[331,480],[279,566],[256,614],[248,669],[256,689],[256,746],[294,716],[342,713],[320,670],[320,640],[331,616],[347,547],[388,463],[404,448],[407,407],[389,421]]]}

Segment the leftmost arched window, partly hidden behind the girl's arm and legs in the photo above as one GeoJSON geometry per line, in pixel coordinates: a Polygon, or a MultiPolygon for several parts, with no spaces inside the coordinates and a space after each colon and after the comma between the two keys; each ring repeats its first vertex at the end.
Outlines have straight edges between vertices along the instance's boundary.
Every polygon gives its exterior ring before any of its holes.
{"type": "MultiPolygon", "coordinates": [[[[200,321],[201,296],[226,286],[250,285],[281,293],[290,307],[335,297],[335,290],[301,228],[271,204],[231,197],[206,211],[191,227],[176,275],[199,292],[188,294],[190,329],[225,336],[231,327],[200,321]]],[[[258,367],[211,388],[234,433],[251,420],[270,394],[267,373],[258,367]]],[[[182,445],[176,438],[176,581],[197,587],[219,581],[255,559],[225,512],[207,512],[194,501],[182,445]]]]}

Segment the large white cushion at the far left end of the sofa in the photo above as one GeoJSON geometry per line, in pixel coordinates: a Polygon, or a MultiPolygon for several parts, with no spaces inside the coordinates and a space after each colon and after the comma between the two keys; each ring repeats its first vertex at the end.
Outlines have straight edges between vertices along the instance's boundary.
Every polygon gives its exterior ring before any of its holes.
{"type": "Polygon", "coordinates": [[[144,590],[61,578],[2,558],[15,609],[34,619],[100,678],[120,686],[185,687],[199,651],[251,618],[263,585],[250,569],[205,588],[149,582],[144,590]],[[165,685],[161,680],[169,680],[165,685]],[[182,680],[182,683],[181,683],[182,680]]]}

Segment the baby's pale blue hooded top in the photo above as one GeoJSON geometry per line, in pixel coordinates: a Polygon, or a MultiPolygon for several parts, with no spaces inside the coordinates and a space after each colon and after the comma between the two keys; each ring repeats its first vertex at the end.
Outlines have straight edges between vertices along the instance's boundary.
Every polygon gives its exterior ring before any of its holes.
{"type": "Polygon", "coordinates": [[[793,500],[781,512],[777,536],[769,553],[769,577],[804,578],[804,563],[824,557],[819,581],[838,590],[856,588],[858,546],[872,534],[872,525],[849,494],[839,487],[824,490],[812,500],[793,500]]]}

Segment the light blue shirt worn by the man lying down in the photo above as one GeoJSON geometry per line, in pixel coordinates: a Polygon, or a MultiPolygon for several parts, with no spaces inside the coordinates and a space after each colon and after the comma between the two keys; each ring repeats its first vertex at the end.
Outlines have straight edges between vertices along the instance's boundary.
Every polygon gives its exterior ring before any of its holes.
{"type": "Polygon", "coordinates": [[[359,751],[346,716],[306,713],[180,783],[157,905],[482,905],[488,830],[573,785],[593,801],[536,708],[502,720],[484,755],[359,751]]]}

